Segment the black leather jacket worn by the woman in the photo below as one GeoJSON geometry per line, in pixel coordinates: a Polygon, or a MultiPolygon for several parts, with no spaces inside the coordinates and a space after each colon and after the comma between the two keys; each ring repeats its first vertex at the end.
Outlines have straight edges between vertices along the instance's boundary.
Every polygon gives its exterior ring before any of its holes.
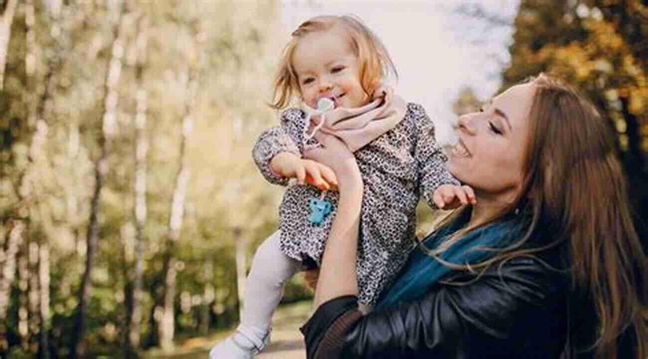
{"type": "Polygon", "coordinates": [[[569,284],[565,272],[520,257],[367,315],[354,296],[332,299],[301,329],[307,358],[559,358],[569,284]]]}

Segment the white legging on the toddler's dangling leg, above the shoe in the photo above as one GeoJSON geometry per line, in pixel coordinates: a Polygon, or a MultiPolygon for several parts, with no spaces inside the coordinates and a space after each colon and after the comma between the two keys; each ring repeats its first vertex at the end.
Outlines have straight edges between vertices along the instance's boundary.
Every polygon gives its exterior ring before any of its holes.
{"type": "Polygon", "coordinates": [[[281,232],[270,235],[257,249],[243,294],[241,325],[268,332],[272,314],[283,297],[286,281],[303,267],[279,247],[281,232]]]}

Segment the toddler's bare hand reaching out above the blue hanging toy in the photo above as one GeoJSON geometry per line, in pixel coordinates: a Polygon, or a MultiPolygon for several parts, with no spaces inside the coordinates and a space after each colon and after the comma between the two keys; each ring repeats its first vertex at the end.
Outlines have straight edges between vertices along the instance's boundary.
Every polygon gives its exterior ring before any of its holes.
{"type": "Polygon", "coordinates": [[[335,173],[328,166],[299,158],[290,152],[277,153],[270,161],[270,168],[278,175],[296,178],[299,184],[307,181],[323,191],[338,185],[335,173]]]}

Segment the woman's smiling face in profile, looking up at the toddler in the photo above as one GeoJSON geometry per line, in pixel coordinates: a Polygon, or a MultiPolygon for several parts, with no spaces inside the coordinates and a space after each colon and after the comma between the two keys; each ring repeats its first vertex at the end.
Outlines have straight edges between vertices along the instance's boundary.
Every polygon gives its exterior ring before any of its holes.
{"type": "Polygon", "coordinates": [[[476,196],[511,202],[524,179],[533,83],[516,85],[493,98],[483,111],[459,118],[459,144],[448,168],[476,196]]]}

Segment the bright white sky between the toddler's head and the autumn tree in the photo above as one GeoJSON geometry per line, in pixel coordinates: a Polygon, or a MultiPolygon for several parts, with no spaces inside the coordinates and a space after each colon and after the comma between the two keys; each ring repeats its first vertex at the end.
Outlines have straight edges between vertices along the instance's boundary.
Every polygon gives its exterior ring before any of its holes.
{"type": "MultiPolygon", "coordinates": [[[[478,2],[502,16],[515,16],[516,0],[478,2]]],[[[437,123],[437,138],[446,138],[450,122],[456,120],[451,103],[459,89],[472,87],[481,98],[492,96],[500,85],[501,65],[491,54],[507,61],[510,30],[485,32],[483,24],[459,16],[452,10],[460,0],[369,1],[284,0],[282,23],[284,44],[300,23],[312,16],[354,14],[382,39],[397,70],[397,93],[406,101],[419,102],[437,123]],[[485,45],[471,41],[481,39],[485,45]]]]}

